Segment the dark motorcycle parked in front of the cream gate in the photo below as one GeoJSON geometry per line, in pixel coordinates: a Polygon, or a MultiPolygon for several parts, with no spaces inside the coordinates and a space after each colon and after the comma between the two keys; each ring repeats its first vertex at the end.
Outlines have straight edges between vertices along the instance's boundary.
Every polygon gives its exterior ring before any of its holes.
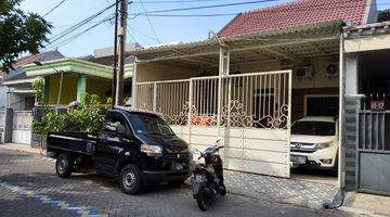
{"type": "Polygon", "coordinates": [[[211,201],[226,194],[223,183],[223,164],[218,151],[219,138],[213,146],[207,148],[204,152],[192,149],[192,153],[200,153],[198,159],[204,158],[205,163],[196,164],[193,168],[192,186],[193,195],[200,210],[207,210],[211,201]]]}

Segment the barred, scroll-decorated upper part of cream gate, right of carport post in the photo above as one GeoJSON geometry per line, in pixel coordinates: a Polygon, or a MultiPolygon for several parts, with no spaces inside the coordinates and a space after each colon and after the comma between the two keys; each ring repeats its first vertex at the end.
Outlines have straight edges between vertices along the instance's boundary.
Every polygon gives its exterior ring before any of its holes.
{"type": "Polygon", "coordinates": [[[287,128],[288,73],[231,75],[222,79],[221,125],[287,128]]]}

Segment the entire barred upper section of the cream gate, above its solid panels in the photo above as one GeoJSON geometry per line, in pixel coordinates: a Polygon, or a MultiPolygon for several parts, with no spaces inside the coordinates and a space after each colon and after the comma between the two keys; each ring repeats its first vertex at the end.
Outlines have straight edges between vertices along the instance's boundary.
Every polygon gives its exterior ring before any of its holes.
{"type": "Polygon", "coordinates": [[[140,82],[136,105],[170,125],[287,128],[288,76],[281,71],[140,82]]]}

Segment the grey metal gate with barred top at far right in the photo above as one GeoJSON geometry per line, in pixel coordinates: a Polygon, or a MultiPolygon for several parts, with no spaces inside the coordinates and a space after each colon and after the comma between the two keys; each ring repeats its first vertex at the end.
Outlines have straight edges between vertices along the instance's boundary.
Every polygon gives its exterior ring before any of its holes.
{"type": "Polygon", "coordinates": [[[358,127],[358,189],[390,195],[390,111],[362,110],[358,127]]]}

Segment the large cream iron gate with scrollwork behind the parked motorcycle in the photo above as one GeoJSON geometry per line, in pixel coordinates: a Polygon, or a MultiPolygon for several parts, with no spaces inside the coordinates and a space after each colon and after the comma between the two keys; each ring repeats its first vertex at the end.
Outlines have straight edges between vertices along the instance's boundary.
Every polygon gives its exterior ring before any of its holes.
{"type": "Polygon", "coordinates": [[[136,105],[200,150],[222,137],[225,168],[289,177],[290,84],[290,71],[141,82],[136,105]]]}

